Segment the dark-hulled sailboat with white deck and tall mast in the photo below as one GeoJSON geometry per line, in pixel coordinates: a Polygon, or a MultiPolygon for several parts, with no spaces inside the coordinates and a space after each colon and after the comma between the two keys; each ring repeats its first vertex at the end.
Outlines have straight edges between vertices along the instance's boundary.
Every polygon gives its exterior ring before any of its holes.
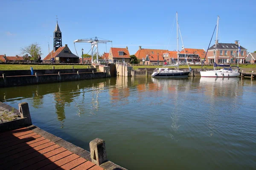
{"type": "Polygon", "coordinates": [[[169,68],[156,68],[151,77],[159,78],[176,78],[176,77],[188,77],[190,71],[179,70],[179,34],[178,34],[178,13],[176,12],[176,24],[177,24],[177,63],[175,65],[166,66],[177,66],[178,70],[170,70],[169,68]]]}

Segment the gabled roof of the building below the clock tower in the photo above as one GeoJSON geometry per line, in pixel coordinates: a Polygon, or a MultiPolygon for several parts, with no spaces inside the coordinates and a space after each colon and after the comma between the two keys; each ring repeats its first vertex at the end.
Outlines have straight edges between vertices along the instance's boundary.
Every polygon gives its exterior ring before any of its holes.
{"type": "Polygon", "coordinates": [[[59,47],[55,52],[52,50],[43,60],[49,60],[54,57],[79,58],[70,51],[67,44],[64,47],[59,47]]]}

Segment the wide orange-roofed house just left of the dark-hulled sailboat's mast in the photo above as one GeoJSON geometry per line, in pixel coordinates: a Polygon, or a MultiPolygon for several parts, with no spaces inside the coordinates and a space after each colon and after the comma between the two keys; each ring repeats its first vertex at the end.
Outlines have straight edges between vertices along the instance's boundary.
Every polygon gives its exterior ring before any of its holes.
{"type": "Polygon", "coordinates": [[[166,60],[163,56],[164,53],[168,53],[168,50],[160,50],[160,49],[145,49],[139,46],[139,50],[134,54],[139,60],[140,65],[149,65],[157,63],[157,55],[159,59],[159,63],[163,64],[166,60]],[[145,61],[147,58],[148,61],[145,61]],[[144,62],[143,62],[144,59],[144,62]]]}

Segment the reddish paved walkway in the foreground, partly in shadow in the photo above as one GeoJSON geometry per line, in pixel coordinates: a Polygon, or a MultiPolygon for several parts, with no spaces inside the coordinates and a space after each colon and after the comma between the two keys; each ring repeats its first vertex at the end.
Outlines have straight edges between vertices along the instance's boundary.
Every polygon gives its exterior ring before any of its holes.
{"type": "MultiPolygon", "coordinates": [[[[67,147],[61,147],[60,145],[64,145],[66,142],[63,139],[61,140],[64,142],[58,140],[58,144],[55,142],[58,137],[52,135],[53,139],[49,140],[48,137],[43,137],[44,135],[42,136],[39,131],[40,129],[37,133],[36,130],[24,127],[0,133],[0,169],[104,170],[75,154],[77,149],[70,151],[66,149],[67,147]]],[[[47,135],[47,133],[44,134],[47,135]]],[[[79,153],[83,154],[85,150],[79,153]]]]}

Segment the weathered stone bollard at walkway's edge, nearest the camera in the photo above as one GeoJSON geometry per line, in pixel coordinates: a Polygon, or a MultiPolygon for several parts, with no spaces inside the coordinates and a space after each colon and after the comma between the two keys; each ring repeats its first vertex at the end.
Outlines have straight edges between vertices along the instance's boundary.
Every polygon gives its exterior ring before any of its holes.
{"type": "Polygon", "coordinates": [[[105,141],[99,138],[90,142],[90,153],[92,162],[96,165],[100,165],[107,161],[107,153],[105,141]]]}

